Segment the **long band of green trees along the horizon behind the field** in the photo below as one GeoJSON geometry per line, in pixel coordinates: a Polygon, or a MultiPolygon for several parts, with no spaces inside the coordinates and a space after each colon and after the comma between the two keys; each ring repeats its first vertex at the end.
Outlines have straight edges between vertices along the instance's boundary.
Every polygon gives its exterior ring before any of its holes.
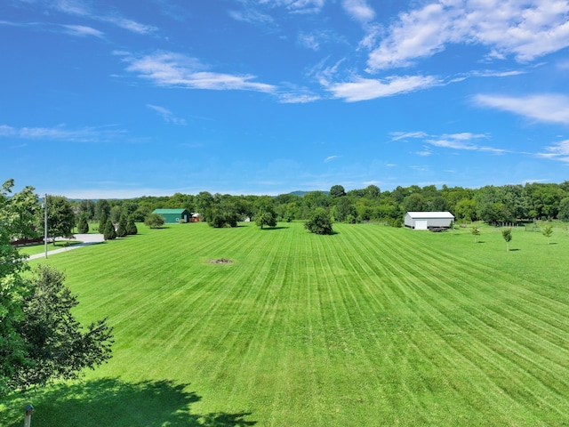
{"type": "MultiPolygon", "coordinates": [[[[569,221],[569,181],[485,186],[480,189],[434,185],[383,190],[375,185],[346,191],[334,185],[329,191],[267,196],[232,196],[202,191],[197,195],[176,193],[170,197],[137,197],[128,200],[83,200],[76,211],[88,221],[106,215],[119,222],[122,214],[132,222],[143,222],[156,208],[184,208],[201,215],[213,227],[235,226],[250,218],[265,225],[278,221],[308,220],[322,208],[338,222],[378,221],[400,226],[409,211],[450,211],[457,221],[487,223],[520,220],[569,221]],[[270,199],[270,203],[267,199],[270,199]],[[269,213],[267,213],[269,209],[269,213]]],[[[104,229],[100,229],[104,230],[104,229]]]]}

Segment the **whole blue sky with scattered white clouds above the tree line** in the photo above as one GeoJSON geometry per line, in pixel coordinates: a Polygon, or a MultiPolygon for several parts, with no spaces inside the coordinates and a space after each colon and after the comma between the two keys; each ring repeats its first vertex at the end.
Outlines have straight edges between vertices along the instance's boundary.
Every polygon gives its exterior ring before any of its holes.
{"type": "Polygon", "coordinates": [[[569,179],[569,2],[2,0],[0,179],[72,198],[569,179]]]}

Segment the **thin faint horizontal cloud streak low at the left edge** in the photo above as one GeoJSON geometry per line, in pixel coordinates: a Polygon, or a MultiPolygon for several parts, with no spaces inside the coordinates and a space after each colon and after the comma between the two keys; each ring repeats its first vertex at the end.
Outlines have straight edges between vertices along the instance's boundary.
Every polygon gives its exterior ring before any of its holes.
{"type": "Polygon", "coordinates": [[[124,131],[110,127],[84,127],[68,129],[65,125],[55,127],[12,127],[0,125],[0,138],[22,140],[51,140],[67,142],[106,142],[124,136],[124,131]]]}

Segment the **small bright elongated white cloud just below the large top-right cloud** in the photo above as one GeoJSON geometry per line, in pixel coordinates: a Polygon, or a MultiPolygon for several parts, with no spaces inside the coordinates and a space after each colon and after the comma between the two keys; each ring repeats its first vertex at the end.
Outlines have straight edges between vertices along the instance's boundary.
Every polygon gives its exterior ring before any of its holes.
{"type": "Polygon", "coordinates": [[[419,91],[439,84],[432,76],[388,77],[383,80],[357,77],[352,82],[336,83],[327,89],[336,98],[354,102],[419,91]]]}

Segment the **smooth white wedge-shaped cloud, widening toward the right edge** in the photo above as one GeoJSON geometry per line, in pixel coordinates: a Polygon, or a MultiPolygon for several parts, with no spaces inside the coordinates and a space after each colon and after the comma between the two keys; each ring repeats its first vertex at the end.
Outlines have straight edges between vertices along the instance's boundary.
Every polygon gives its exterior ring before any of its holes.
{"type": "Polygon", "coordinates": [[[569,97],[558,94],[537,94],[523,97],[477,95],[477,104],[501,109],[547,123],[569,125],[569,97]]]}

